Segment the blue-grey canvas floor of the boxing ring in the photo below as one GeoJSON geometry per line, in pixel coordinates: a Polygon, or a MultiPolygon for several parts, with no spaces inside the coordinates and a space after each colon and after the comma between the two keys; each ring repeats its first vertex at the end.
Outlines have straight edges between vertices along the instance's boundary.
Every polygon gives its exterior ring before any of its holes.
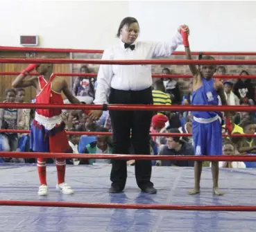
{"type": "MultiPolygon", "coordinates": [[[[212,173],[204,168],[200,195],[188,195],[194,185],[193,168],[153,167],[156,195],[142,193],[128,167],[123,193],[110,194],[110,166],[67,166],[66,181],[74,195],[56,190],[56,167],[47,166],[49,195],[37,196],[36,165],[0,166],[0,199],[127,204],[256,205],[256,170],[221,169],[223,196],[212,195],[212,173]]],[[[0,231],[19,232],[200,232],[256,230],[256,212],[157,211],[103,208],[0,206],[0,231]]]]}

